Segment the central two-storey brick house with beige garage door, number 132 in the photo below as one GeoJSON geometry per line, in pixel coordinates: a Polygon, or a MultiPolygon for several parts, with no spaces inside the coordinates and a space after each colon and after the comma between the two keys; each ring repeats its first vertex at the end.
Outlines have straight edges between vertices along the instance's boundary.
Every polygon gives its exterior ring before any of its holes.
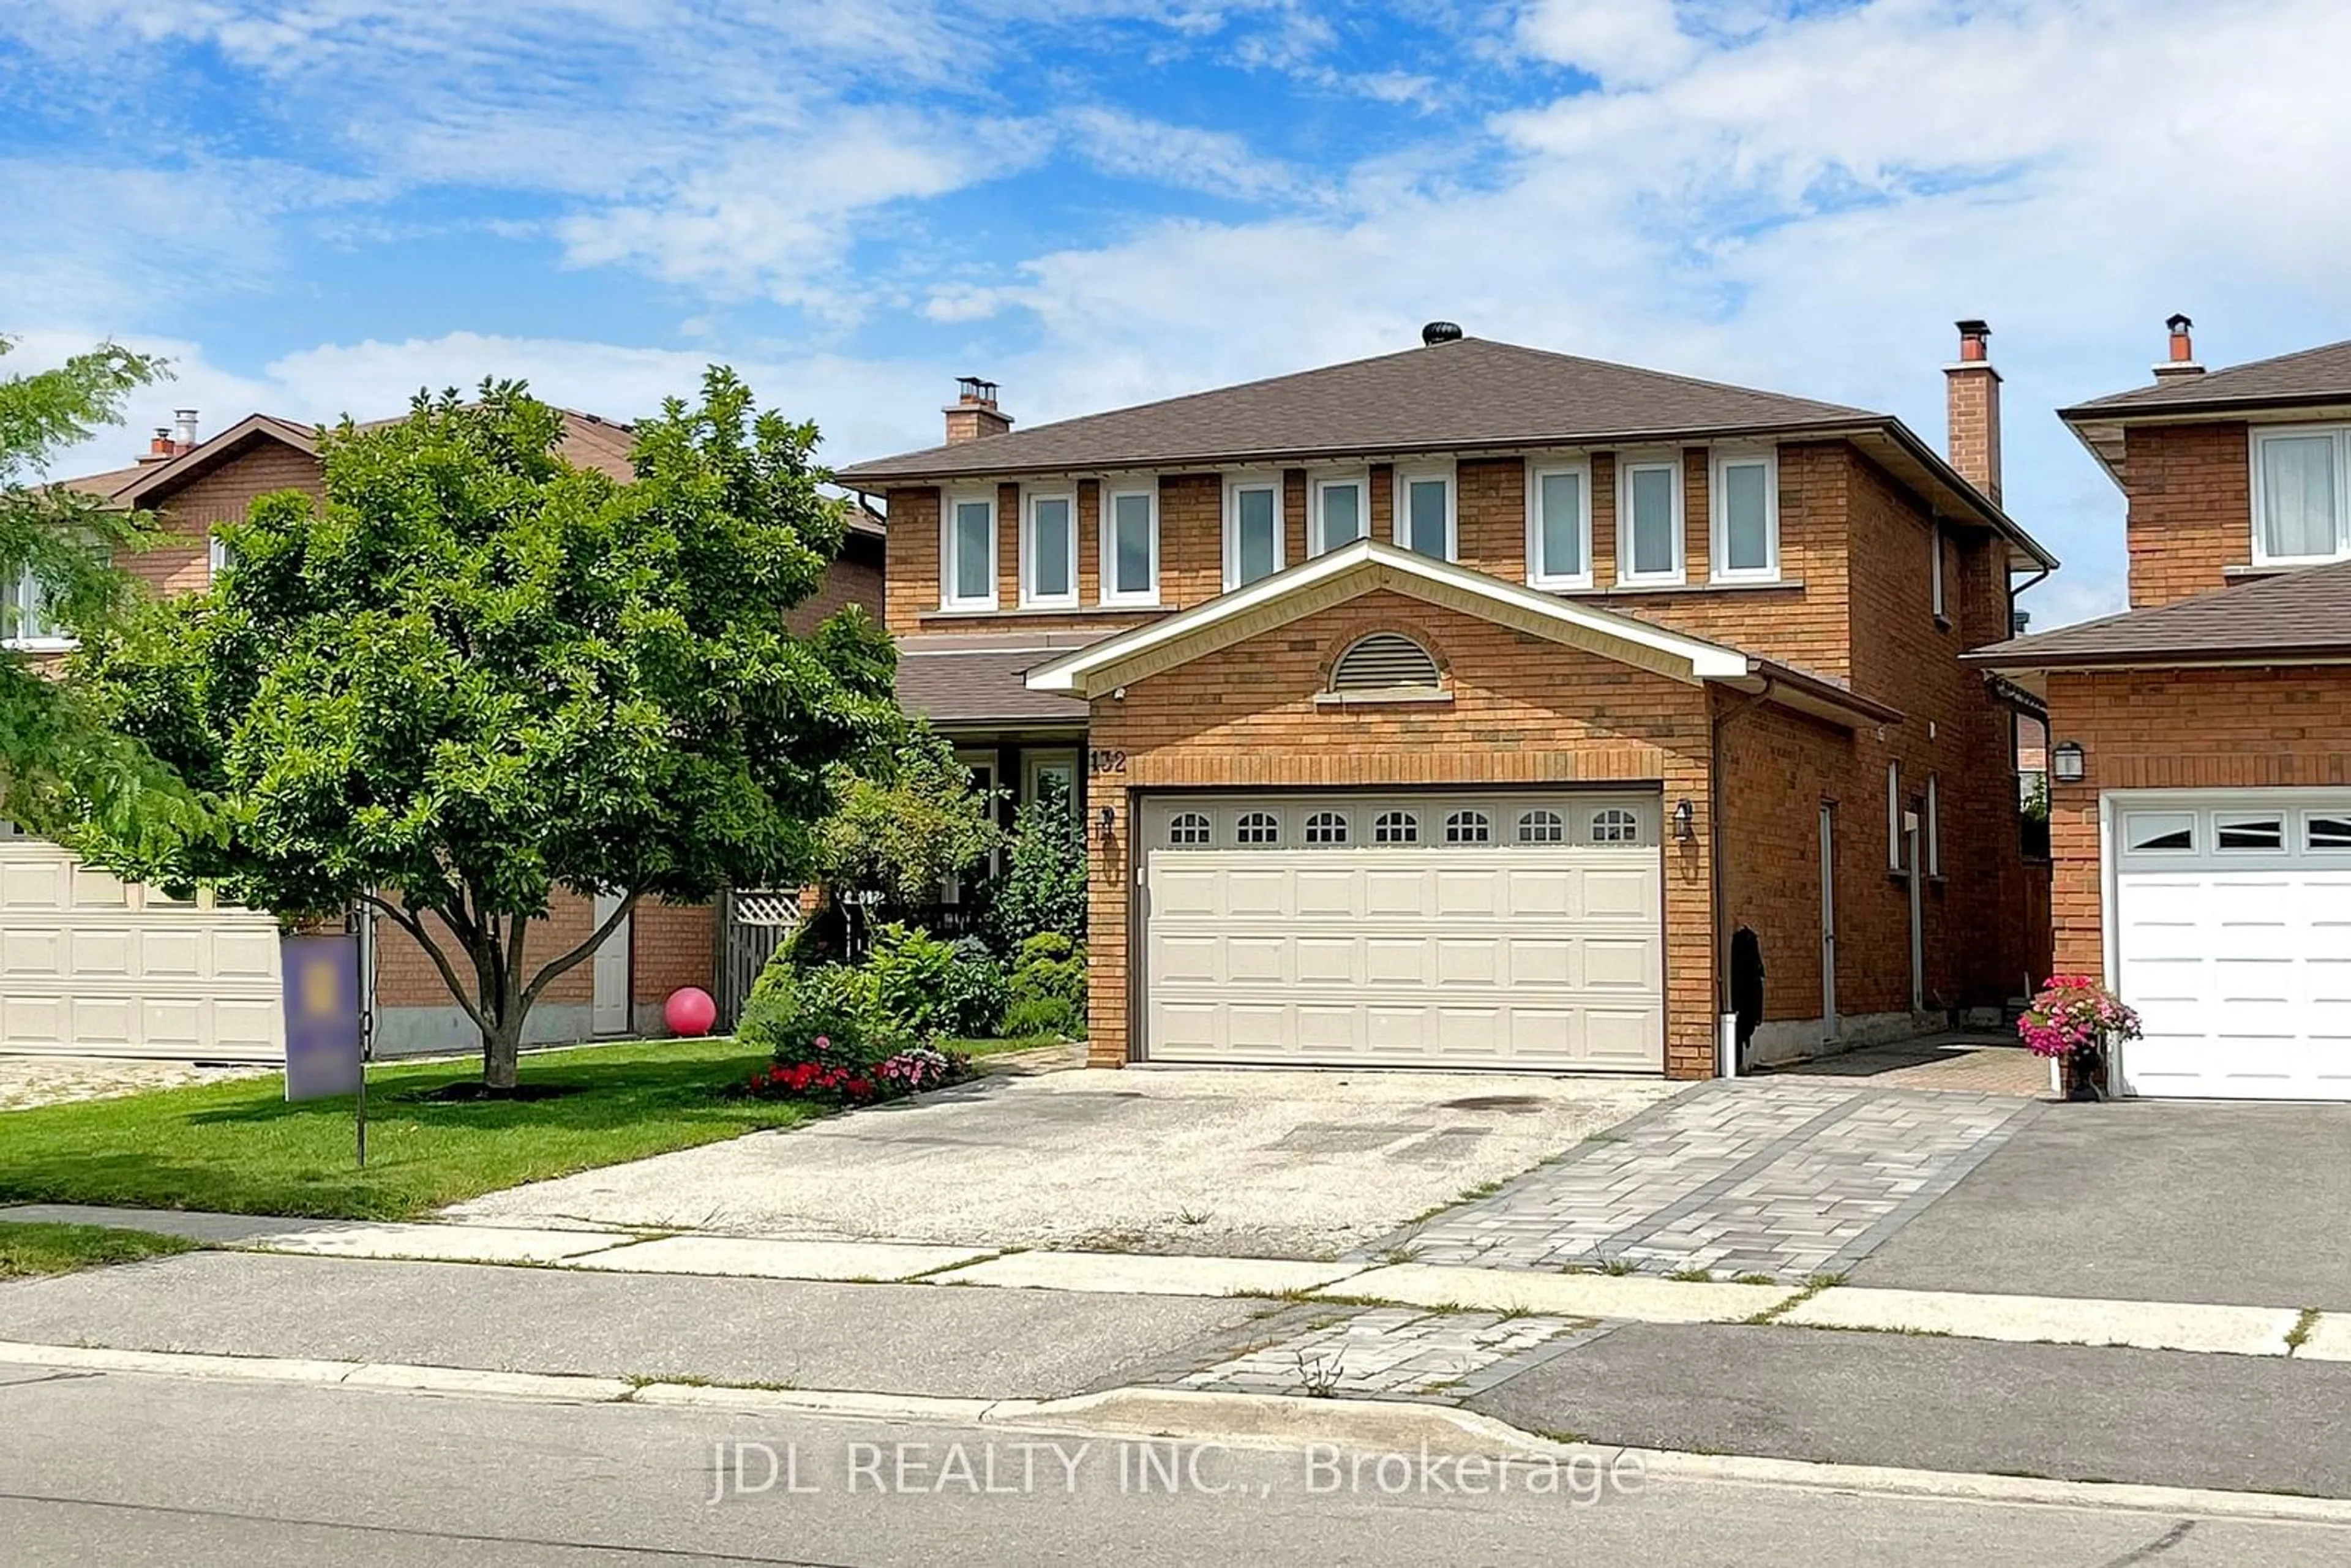
{"type": "Polygon", "coordinates": [[[839,475],[889,503],[900,701],[1077,785],[1091,1060],[1707,1077],[1726,1016],[1784,1060],[2038,980],[2024,698],[1961,663],[2055,567],[1987,329],[1951,456],[1422,339],[1020,433],[969,378],[839,475]]]}

